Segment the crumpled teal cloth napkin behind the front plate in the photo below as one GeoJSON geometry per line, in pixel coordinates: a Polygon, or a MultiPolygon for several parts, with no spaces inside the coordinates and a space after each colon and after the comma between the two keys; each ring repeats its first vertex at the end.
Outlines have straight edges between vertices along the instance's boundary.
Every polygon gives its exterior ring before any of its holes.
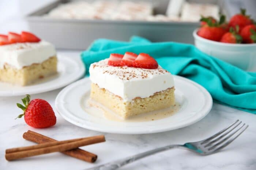
{"type": "Polygon", "coordinates": [[[215,102],[256,114],[256,72],[243,71],[204,54],[191,44],[151,43],[138,36],[133,36],[129,42],[98,39],[81,54],[87,75],[91,63],[109,58],[111,53],[127,51],[148,53],[172,74],[201,84],[215,102]]]}

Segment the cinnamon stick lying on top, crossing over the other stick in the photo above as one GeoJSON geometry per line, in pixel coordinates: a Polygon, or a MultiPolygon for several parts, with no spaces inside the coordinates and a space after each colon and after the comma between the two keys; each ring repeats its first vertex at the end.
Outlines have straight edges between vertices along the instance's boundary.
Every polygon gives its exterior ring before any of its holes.
{"type": "MultiPolygon", "coordinates": [[[[63,141],[52,142],[52,145],[39,147],[38,149],[33,149],[34,147],[31,147],[31,148],[29,148],[29,150],[24,150],[21,148],[18,150],[22,150],[22,151],[5,154],[5,159],[8,161],[12,161],[15,159],[32,157],[32,156],[36,156],[36,155],[71,150],[71,149],[75,149],[80,146],[91,145],[91,144],[99,143],[99,142],[105,142],[105,137],[104,137],[104,135],[99,135],[99,136],[95,136],[95,137],[79,139],[78,141],[73,141],[73,142],[68,142],[68,143],[62,143],[62,142],[63,141]]],[[[44,145],[44,144],[42,144],[42,145],[44,145]]]]}

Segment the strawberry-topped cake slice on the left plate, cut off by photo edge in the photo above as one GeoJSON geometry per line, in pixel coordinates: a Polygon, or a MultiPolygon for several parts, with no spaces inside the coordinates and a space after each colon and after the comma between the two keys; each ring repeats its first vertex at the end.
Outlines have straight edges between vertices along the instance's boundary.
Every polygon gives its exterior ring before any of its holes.
{"type": "Polygon", "coordinates": [[[29,32],[0,35],[0,81],[26,86],[57,73],[54,46],[29,32]]]}

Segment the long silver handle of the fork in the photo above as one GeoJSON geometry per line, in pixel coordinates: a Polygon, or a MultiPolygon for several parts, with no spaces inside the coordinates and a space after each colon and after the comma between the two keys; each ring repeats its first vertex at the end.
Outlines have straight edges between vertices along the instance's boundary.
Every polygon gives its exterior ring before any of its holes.
{"type": "Polygon", "coordinates": [[[124,166],[128,163],[137,161],[138,159],[141,159],[141,158],[144,158],[144,157],[147,157],[147,156],[150,156],[150,155],[153,155],[153,154],[165,151],[165,150],[169,150],[169,149],[173,149],[173,148],[180,148],[180,147],[183,147],[183,146],[182,145],[168,145],[168,146],[164,146],[164,147],[159,147],[157,149],[149,150],[149,151],[146,151],[146,152],[143,152],[140,154],[133,155],[131,157],[120,159],[120,160],[117,160],[114,162],[109,162],[109,163],[99,165],[99,166],[96,166],[93,168],[89,168],[86,170],[114,170],[114,169],[117,169],[117,168],[124,166]]]}

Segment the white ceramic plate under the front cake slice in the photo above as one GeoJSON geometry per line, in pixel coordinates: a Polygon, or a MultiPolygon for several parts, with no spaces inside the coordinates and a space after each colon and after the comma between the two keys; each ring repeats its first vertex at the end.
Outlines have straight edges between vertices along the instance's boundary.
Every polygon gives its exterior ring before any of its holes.
{"type": "Polygon", "coordinates": [[[83,110],[84,96],[90,95],[89,78],[81,79],[65,87],[55,100],[59,114],[68,122],[85,129],[118,133],[148,134],[178,129],[204,118],[212,107],[209,92],[199,84],[180,76],[174,76],[176,101],[181,109],[174,115],[148,122],[115,122],[88,114],[83,110]]]}

